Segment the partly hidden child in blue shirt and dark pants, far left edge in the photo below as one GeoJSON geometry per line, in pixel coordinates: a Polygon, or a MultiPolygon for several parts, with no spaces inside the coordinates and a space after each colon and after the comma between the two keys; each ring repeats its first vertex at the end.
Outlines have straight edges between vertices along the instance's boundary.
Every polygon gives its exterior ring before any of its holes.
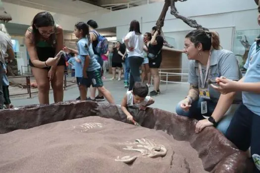
{"type": "Polygon", "coordinates": [[[4,102],[3,104],[5,105],[6,109],[10,109],[13,107],[13,105],[11,104],[11,100],[10,100],[10,96],[9,96],[9,81],[8,78],[6,76],[6,64],[2,64],[2,68],[3,68],[3,76],[2,76],[2,92],[3,92],[3,99],[4,102]]]}

